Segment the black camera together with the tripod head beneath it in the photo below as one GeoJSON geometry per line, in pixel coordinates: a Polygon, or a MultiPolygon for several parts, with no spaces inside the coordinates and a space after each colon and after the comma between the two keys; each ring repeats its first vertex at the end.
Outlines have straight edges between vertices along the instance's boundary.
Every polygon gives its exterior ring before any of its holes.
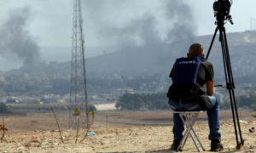
{"type": "Polygon", "coordinates": [[[215,24],[219,27],[223,27],[226,20],[229,20],[233,25],[232,17],[230,15],[230,8],[232,0],[217,0],[213,3],[214,16],[216,17],[215,24]]]}

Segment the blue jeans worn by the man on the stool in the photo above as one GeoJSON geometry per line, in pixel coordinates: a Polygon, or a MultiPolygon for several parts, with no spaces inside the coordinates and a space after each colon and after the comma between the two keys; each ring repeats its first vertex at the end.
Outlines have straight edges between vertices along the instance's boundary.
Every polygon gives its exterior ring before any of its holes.
{"type": "MultiPolygon", "coordinates": [[[[221,134],[219,132],[219,115],[218,115],[218,100],[214,96],[209,96],[212,101],[212,107],[207,110],[208,125],[210,128],[209,139],[220,139],[221,134]]],[[[170,108],[173,111],[201,111],[201,106],[198,103],[195,104],[178,104],[169,99],[168,102],[170,108]]],[[[173,128],[172,133],[174,139],[183,138],[183,121],[177,113],[173,113],[173,128]]]]}

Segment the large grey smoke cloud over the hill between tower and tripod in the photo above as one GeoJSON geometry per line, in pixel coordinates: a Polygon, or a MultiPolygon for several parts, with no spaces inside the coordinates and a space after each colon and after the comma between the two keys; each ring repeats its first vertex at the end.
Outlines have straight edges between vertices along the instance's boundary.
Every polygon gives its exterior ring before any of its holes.
{"type": "Polygon", "coordinates": [[[85,11],[99,11],[85,12],[84,19],[93,16],[90,21],[97,26],[99,40],[112,44],[115,51],[119,51],[112,57],[102,57],[100,64],[93,64],[97,70],[112,69],[120,74],[161,73],[167,77],[175,59],[185,56],[189,45],[195,41],[197,27],[189,4],[183,0],[86,2],[85,11]],[[98,6],[101,2],[104,3],[98,6]],[[116,6],[117,2],[124,3],[116,6]],[[143,10],[143,4],[147,3],[156,4],[156,9],[143,10]],[[132,11],[135,14],[129,16],[132,11]]]}

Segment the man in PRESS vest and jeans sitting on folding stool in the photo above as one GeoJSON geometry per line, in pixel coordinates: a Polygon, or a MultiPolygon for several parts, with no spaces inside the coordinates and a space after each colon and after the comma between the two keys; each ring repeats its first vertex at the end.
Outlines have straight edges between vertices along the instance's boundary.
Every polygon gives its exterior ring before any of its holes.
{"type": "MultiPolygon", "coordinates": [[[[204,59],[204,48],[194,43],[189,48],[187,58],[177,59],[171,74],[172,86],[168,91],[170,108],[174,111],[207,111],[210,128],[211,151],[223,150],[219,132],[218,101],[213,95],[213,66],[204,59]],[[206,92],[203,86],[206,85],[206,92]]],[[[177,150],[183,138],[183,122],[178,114],[173,114],[174,140],[172,150],[177,150]]]]}

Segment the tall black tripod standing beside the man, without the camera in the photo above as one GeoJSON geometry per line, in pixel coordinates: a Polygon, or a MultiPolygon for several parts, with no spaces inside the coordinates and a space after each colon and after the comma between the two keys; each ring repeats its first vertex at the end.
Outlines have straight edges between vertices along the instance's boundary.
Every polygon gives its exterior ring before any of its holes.
{"type": "Polygon", "coordinates": [[[215,29],[214,35],[212,37],[212,42],[207,52],[207,59],[211,52],[212,44],[214,42],[216,34],[219,31],[219,42],[221,43],[221,48],[222,48],[226,88],[229,90],[229,93],[230,93],[230,105],[231,105],[232,117],[234,122],[235,133],[236,133],[236,150],[240,150],[241,147],[243,147],[244,145],[244,139],[242,139],[241,137],[241,127],[240,127],[239,116],[237,112],[236,96],[234,92],[235,83],[234,83],[232,68],[230,64],[230,53],[229,53],[229,47],[228,47],[228,42],[226,37],[226,31],[224,27],[224,20],[230,20],[232,25],[233,25],[233,22],[231,20],[230,15],[224,16],[223,14],[215,14],[215,16],[217,18],[217,21],[216,21],[217,27],[215,29]]]}

